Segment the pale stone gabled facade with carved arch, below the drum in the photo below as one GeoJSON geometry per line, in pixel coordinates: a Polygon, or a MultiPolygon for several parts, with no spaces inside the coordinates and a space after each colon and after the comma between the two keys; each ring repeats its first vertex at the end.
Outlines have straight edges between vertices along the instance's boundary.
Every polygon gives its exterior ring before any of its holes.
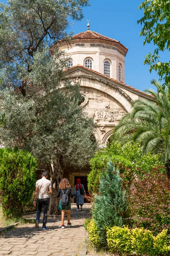
{"type": "Polygon", "coordinates": [[[84,98],[81,106],[94,119],[94,135],[99,145],[108,142],[113,127],[130,111],[132,100],[139,97],[151,99],[147,93],[80,65],[71,67],[65,74],[72,84],[80,85],[84,98]]]}

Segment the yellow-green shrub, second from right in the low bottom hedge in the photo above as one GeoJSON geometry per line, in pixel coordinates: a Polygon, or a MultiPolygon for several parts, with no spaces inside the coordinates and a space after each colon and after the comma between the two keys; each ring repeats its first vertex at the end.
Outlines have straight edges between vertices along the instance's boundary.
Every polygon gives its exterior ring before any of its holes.
{"type": "Polygon", "coordinates": [[[155,255],[153,253],[153,241],[154,236],[150,230],[143,228],[132,230],[132,246],[137,255],[155,255]]]}

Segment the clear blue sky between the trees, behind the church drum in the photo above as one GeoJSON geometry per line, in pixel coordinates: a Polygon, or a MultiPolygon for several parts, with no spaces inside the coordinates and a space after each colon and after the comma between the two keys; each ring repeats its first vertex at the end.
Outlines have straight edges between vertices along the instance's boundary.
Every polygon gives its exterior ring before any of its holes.
{"type": "MultiPolygon", "coordinates": [[[[91,6],[83,9],[84,19],[77,21],[71,31],[74,34],[87,30],[87,19],[90,19],[90,30],[119,40],[128,48],[125,57],[125,83],[139,90],[151,87],[151,79],[159,79],[157,73],[150,74],[149,66],[144,65],[144,56],[153,52],[153,44],[143,46],[144,38],[139,37],[142,26],[137,24],[143,16],[138,10],[142,0],[89,0],[91,6]]],[[[4,1],[7,3],[7,0],[4,1]]],[[[169,54],[169,53],[168,53],[169,54]]],[[[165,61],[167,53],[161,60],[165,61]]]]}

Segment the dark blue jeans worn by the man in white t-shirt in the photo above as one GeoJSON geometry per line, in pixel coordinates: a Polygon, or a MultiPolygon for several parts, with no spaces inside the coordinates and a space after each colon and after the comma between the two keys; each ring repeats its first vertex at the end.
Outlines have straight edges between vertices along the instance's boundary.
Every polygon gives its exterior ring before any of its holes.
{"type": "Polygon", "coordinates": [[[48,211],[48,205],[49,205],[50,198],[42,198],[42,199],[37,199],[37,220],[40,221],[40,214],[42,211],[42,205],[43,205],[43,224],[42,227],[46,227],[47,223],[47,211],[48,211]]]}

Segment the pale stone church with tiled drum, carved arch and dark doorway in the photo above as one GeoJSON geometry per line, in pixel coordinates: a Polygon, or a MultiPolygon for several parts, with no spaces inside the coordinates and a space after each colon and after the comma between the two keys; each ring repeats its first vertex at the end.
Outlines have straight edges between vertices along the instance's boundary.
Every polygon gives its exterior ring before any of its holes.
{"type": "MultiPolygon", "coordinates": [[[[82,108],[93,117],[96,124],[94,136],[98,145],[106,144],[114,126],[130,111],[130,102],[139,98],[152,99],[150,95],[125,84],[125,56],[127,48],[119,41],[88,30],[73,36],[71,46],[59,47],[69,58],[65,75],[73,84],[80,84],[84,102],[82,108]]],[[[78,177],[87,191],[90,170],[68,175],[71,186],[78,177]]]]}

